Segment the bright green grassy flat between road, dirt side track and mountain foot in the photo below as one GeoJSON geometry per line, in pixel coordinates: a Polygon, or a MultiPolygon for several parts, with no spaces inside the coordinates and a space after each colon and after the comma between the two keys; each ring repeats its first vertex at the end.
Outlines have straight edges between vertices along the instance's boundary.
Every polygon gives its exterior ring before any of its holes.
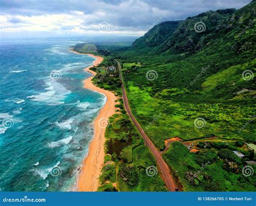
{"type": "Polygon", "coordinates": [[[150,87],[141,90],[130,81],[127,84],[133,114],[161,150],[165,148],[164,140],[174,136],[184,140],[218,136],[223,139],[254,141],[254,135],[250,132],[255,131],[253,123],[239,132],[250,121],[255,112],[254,105],[180,102],[159,98],[158,95],[152,97],[150,92],[150,87]],[[198,118],[205,120],[203,128],[194,125],[198,118]]]}

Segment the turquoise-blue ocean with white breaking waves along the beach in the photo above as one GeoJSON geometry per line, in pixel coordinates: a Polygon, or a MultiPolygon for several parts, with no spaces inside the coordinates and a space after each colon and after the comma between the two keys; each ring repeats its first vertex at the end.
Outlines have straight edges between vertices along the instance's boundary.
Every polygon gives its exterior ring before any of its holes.
{"type": "Polygon", "coordinates": [[[0,191],[75,190],[103,94],[83,88],[78,42],[0,44],[0,191]]]}

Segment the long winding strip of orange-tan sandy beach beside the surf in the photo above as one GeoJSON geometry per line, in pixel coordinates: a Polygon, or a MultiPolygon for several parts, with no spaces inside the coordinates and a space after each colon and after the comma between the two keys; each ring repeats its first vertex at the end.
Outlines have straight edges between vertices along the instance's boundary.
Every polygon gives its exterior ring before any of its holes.
{"type": "Polygon", "coordinates": [[[83,81],[83,87],[102,93],[106,97],[105,105],[100,109],[95,121],[93,121],[95,136],[90,142],[89,152],[83,161],[82,167],[80,168],[78,182],[76,183],[77,191],[97,191],[99,186],[99,175],[101,174],[102,167],[104,166],[104,143],[107,121],[117,109],[114,106],[117,104],[115,100],[117,100],[118,97],[116,97],[112,92],[103,90],[102,88],[99,88],[92,83],[92,78],[97,73],[91,71],[90,68],[99,65],[103,61],[103,57],[87,53],[78,53],[73,50],[69,51],[76,54],[85,54],[95,58],[95,61],[93,61],[92,65],[84,69],[84,71],[91,73],[92,76],[83,81]]]}

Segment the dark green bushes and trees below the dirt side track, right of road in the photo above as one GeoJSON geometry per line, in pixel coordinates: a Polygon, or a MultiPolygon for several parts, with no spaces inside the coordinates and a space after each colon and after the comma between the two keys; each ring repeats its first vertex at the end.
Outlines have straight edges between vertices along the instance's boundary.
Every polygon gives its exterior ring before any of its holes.
{"type": "MultiPolygon", "coordinates": [[[[250,152],[242,150],[244,159],[237,157],[225,144],[226,148],[219,148],[219,143],[211,143],[214,149],[200,149],[199,153],[190,153],[180,142],[173,142],[169,150],[163,155],[171,166],[174,175],[185,191],[255,191],[256,180],[251,176],[242,175],[245,160],[250,152]],[[218,158],[220,157],[220,159],[218,158]],[[182,162],[182,163],[181,163],[182,162]]],[[[223,145],[221,145],[222,147],[223,145]]],[[[253,166],[254,170],[256,169],[253,166]]]]}

